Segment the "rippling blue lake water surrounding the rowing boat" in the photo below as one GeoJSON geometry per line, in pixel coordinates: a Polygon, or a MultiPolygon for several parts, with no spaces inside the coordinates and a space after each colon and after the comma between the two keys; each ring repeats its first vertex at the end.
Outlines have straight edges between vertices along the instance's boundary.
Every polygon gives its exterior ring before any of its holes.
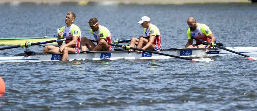
{"type": "MultiPolygon", "coordinates": [[[[69,11],[90,39],[92,17],[113,39],[124,40],[143,35],[137,22],[148,16],[162,34],[162,48],[184,48],[186,21],[193,16],[224,46],[257,47],[257,4],[0,6],[1,37],[51,37],[65,26],[69,11]]],[[[41,52],[43,47],[29,49],[41,52]]],[[[23,50],[1,50],[0,56],[23,50]]],[[[257,110],[256,61],[240,55],[209,58],[214,61],[0,63],[6,86],[0,110],[257,110]]]]}

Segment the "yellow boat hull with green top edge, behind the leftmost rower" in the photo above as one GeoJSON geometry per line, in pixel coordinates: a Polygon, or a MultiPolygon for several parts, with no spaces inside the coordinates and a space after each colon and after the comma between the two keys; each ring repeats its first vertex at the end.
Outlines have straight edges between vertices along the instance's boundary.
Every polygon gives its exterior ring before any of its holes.
{"type": "MultiPolygon", "coordinates": [[[[57,40],[57,38],[0,38],[0,45],[20,45],[26,42],[36,43],[49,40],[57,40]]],[[[50,44],[57,44],[57,42],[50,44]]]]}

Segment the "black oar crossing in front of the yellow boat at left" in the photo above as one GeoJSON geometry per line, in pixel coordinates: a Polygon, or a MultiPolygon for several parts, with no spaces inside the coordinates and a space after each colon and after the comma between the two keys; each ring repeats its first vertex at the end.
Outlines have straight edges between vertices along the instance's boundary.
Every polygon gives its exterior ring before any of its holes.
{"type": "MultiPolygon", "coordinates": [[[[69,39],[72,39],[72,38],[69,38],[69,39]]],[[[66,39],[66,38],[63,38],[63,39],[57,39],[57,40],[49,40],[49,41],[44,41],[44,42],[36,42],[36,43],[25,43],[25,44],[21,44],[21,45],[17,45],[17,46],[10,46],[10,47],[5,47],[5,48],[0,48],[0,50],[5,50],[5,49],[12,49],[12,48],[28,48],[30,46],[33,46],[33,45],[39,45],[39,44],[48,44],[48,43],[52,43],[52,42],[60,42],[60,41],[65,41],[65,40],[69,40],[69,39],[66,39]]]]}

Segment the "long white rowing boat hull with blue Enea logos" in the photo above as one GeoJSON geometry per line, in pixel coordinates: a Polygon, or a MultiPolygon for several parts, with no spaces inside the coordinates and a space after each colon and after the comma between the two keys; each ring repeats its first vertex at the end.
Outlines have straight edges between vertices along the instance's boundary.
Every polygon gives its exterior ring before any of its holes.
{"type": "MultiPolygon", "coordinates": [[[[257,47],[226,47],[229,50],[239,52],[241,54],[253,55],[257,54],[257,47]]],[[[236,55],[222,49],[209,49],[206,54],[206,49],[196,48],[173,48],[169,50],[158,51],[163,54],[176,55],[180,57],[212,57],[212,56],[224,56],[224,55],[236,55]]],[[[25,56],[13,56],[13,57],[0,57],[0,63],[3,62],[41,62],[41,61],[59,61],[62,54],[35,54],[28,57],[25,56]]],[[[240,55],[238,55],[240,56],[240,55]]],[[[68,60],[117,60],[117,59],[169,59],[172,57],[152,54],[143,52],[138,54],[137,52],[128,51],[87,51],[87,53],[69,54],[68,60]]]]}

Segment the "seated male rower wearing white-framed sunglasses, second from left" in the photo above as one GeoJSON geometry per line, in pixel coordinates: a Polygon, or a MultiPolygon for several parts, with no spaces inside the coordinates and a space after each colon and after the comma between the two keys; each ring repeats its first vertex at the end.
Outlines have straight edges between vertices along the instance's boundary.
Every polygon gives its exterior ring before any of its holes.
{"type": "Polygon", "coordinates": [[[112,51],[112,46],[108,45],[108,43],[112,42],[112,34],[108,28],[99,25],[98,20],[95,17],[91,18],[88,23],[91,28],[90,32],[98,42],[96,45],[87,37],[81,38],[81,52],[87,51],[87,48],[93,51],[112,51]]]}

